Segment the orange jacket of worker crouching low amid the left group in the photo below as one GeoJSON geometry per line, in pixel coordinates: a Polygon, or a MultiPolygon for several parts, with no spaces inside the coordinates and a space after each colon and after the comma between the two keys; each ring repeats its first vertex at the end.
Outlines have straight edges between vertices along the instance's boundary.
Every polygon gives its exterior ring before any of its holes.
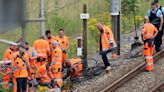
{"type": "Polygon", "coordinates": [[[51,79],[47,75],[47,70],[45,65],[40,66],[37,70],[37,73],[38,73],[38,77],[41,78],[41,82],[43,83],[51,82],[51,79]]]}

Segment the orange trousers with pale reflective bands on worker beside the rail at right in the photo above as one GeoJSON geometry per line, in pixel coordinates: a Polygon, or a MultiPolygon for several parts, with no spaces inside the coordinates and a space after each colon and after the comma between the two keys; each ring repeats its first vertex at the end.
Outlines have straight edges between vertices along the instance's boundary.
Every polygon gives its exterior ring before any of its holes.
{"type": "Polygon", "coordinates": [[[154,45],[149,46],[148,42],[145,42],[143,53],[144,53],[144,58],[146,62],[146,70],[152,71],[154,69],[154,66],[153,66],[154,45]]]}

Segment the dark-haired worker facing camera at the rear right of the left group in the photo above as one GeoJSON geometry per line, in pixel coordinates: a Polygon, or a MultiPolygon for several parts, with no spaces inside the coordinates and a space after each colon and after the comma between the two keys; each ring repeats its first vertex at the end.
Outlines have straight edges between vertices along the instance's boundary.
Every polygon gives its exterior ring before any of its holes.
{"type": "Polygon", "coordinates": [[[59,29],[59,36],[57,37],[57,41],[59,42],[59,46],[63,51],[63,64],[65,66],[65,61],[67,59],[66,50],[69,48],[69,38],[64,35],[64,29],[59,29]]]}

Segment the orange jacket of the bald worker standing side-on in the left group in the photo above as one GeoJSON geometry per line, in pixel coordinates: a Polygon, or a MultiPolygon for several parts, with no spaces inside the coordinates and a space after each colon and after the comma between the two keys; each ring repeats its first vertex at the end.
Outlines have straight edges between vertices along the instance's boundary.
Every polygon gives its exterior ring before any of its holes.
{"type": "Polygon", "coordinates": [[[62,66],[62,50],[60,47],[54,48],[52,51],[52,62],[55,62],[55,64],[59,64],[62,66]]]}

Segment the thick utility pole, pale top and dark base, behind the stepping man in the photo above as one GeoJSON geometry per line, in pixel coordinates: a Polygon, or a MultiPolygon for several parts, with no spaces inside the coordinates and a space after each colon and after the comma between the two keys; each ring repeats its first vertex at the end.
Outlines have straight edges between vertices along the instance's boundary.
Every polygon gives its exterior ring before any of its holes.
{"type": "Polygon", "coordinates": [[[112,31],[117,43],[116,53],[120,55],[120,0],[110,0],[110,15],[112,16],[112,31]]]}

